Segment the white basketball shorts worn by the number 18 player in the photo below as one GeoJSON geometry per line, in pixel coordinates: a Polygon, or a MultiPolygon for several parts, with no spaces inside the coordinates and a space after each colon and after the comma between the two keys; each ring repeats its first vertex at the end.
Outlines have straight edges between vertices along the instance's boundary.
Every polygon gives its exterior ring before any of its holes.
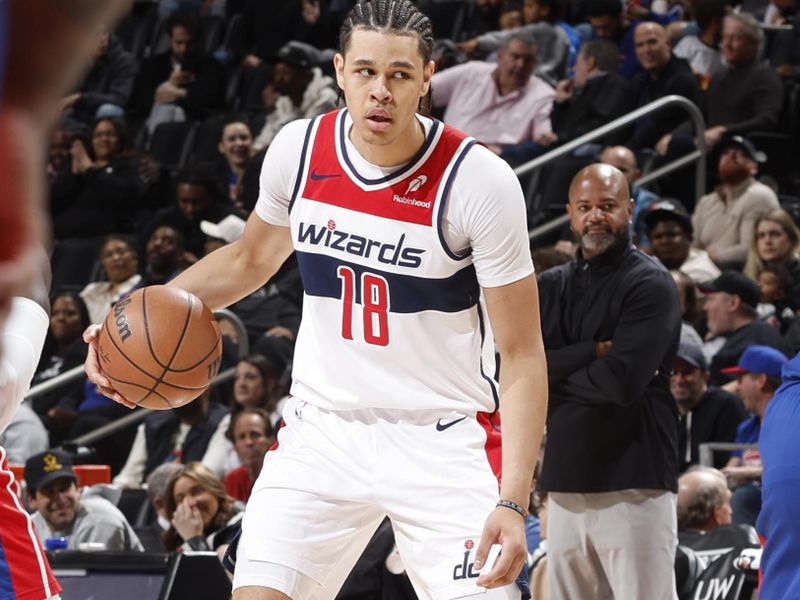
{"type": "Polygon", "coordinates": [[[234,589],[294,600],[336,596],[389,516],[421,600],[520,597],[475,584],[484,522],[498,499],[487,431],[473,415],[325,411],[290,399],[242,521],[234,589]]]}

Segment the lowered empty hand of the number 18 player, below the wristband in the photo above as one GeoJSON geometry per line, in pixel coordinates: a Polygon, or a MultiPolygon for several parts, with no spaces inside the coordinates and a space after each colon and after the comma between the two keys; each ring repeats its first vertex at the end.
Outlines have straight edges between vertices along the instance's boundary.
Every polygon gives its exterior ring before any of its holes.
{"type": "MultiPolygon", "coordinates": [[[[490,571],[481,573],[476,582],[485,588],[509,585],[516,581],[528,558],[525,540],[525,521],[522,515],[504,507],[495,508],[483,526],[478,550],[475,553],[475,568],[483,568],[492,544],[500,544],[502,551],[490,571]]],[[[491,566],[491,565],[490,565],[491,566]]]]}

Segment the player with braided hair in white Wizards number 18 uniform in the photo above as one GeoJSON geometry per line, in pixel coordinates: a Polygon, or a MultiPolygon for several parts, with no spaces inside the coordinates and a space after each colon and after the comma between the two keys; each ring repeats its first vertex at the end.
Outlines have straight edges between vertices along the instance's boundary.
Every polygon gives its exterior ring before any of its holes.
{"type": "MultiPolygon", "coordinates": [[[[408,0],[357,4],[334,60],[347,108],[287,125],[243,238],[170,284],[224,307],[293,248],[303,278],[292,398],[247,505],[236,600],[334,598],[386,515],[421,598],[519,598],[547,394],[524,204],[503,161],[416,113],[432,44],[408,0]]],[[[124,401],[96,350],[86,371],[124,401]]]]}

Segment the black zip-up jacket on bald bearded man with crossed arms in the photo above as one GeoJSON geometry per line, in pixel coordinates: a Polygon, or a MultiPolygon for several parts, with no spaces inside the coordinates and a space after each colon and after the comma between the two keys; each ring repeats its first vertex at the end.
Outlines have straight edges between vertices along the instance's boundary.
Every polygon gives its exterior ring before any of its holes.
{"type": "Polygon", "coordinates": [[[550,405],[541,489],[677,491],[672,276],[630,242],[539,277],[550,405]],[[595,343],[611,341],[597,358],[595,343]]]}

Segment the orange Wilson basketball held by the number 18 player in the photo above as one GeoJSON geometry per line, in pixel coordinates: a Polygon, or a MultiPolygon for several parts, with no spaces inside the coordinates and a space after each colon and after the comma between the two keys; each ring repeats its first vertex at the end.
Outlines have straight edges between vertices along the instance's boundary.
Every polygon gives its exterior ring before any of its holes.
{"type": "Polygon", "coordinates": [[[154,285],[109,311],[97,354],[103,374],[123,398],[168,410],[191,402],[211,384],[222,338],[214,315],[197,296],[154,285]]]}

